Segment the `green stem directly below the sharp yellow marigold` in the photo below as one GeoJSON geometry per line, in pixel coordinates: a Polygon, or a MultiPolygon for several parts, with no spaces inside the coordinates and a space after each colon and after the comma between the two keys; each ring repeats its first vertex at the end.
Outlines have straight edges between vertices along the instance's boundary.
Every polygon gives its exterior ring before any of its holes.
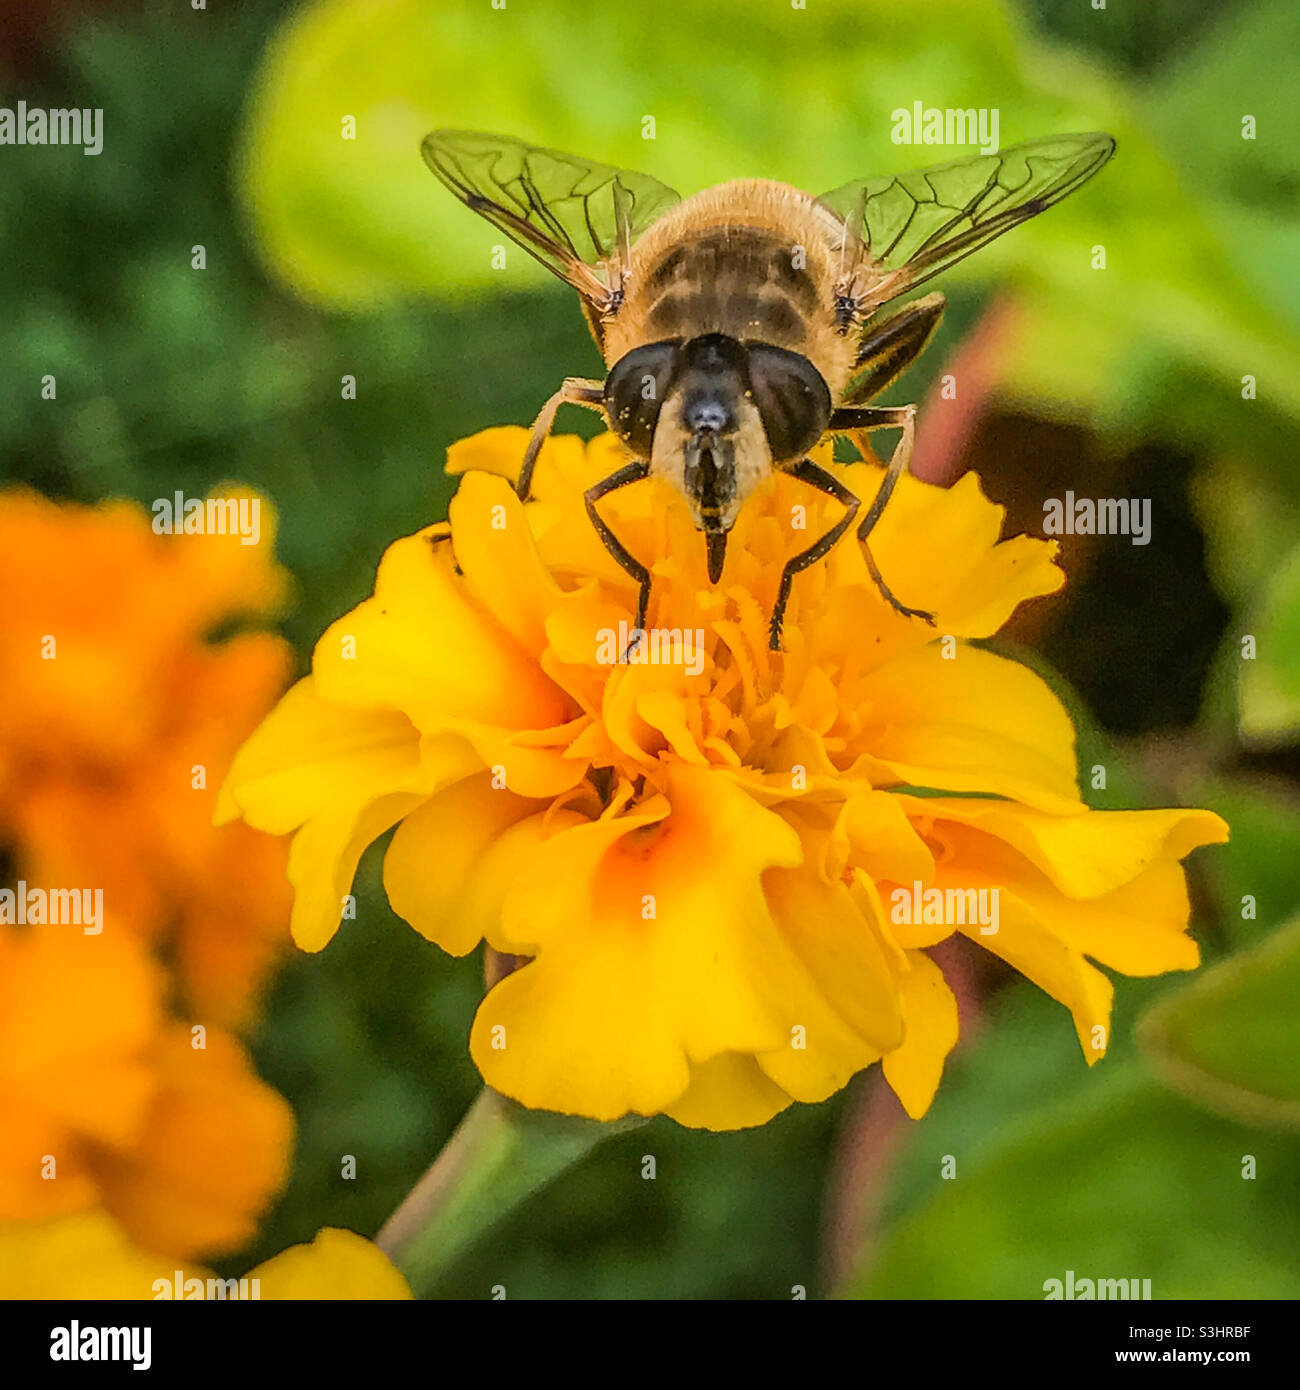
{"type": "Polygon", "coordinates": [[[417,1297],[428,1295],[456,1259],[520,1202],[602,1140],[641,1123],[640,1116],[602,1125],[528,1111],[484,1087],[375,1244],[417,1297]]]}

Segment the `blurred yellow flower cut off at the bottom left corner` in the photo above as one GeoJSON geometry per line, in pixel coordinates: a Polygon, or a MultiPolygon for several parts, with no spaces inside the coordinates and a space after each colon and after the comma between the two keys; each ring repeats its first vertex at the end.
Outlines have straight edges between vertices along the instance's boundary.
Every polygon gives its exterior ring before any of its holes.
{"type": "Polygon", "coordinates": [[[410,1297],[388,1257],[350,1230],[325,1227],[227,1280],[142,1250],[104,1211],[0,1225],[0,1298],[410,1297]]]}

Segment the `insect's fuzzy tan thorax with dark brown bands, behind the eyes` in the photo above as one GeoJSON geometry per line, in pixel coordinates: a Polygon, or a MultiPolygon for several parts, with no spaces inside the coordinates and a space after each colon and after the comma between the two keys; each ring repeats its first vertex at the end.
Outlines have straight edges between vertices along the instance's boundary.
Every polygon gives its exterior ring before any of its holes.
{"type": "Polygon", "coordinates": [[[852,345],[836,332],[829,227],[784,183],[723,183],[687,199],[633,247],[626,297],[603,325],[606,361],[641,343],[726,334],[808,356],[834,391],[852,345]]]}

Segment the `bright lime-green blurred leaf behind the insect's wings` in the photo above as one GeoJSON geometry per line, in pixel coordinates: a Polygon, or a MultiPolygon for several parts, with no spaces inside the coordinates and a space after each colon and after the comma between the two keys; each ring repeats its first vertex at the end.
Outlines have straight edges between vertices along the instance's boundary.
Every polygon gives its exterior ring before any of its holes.
{"type": "MultiPolygon", "coordinates": [[[[756,174],[820,192],[941,158],[890,143],[890,111],[911,110],[926,85],[976,106],[1011,106],[1023,90],[1004,7],[951,0],[941,25],[881,0],[869,21],[862,8],[819,0],[813,18],[748,0],[507,11],[317,0],[267,50],[239,182],[273,267],[306,297],[459,297],[535,286],[545,272],[514,247],[494,265],[502,234],[420,156],[437,126],[644,170],[683,193],[756,174]]],[[[1047,131],[1001,133],[1011,143],[1047,131]]]]}

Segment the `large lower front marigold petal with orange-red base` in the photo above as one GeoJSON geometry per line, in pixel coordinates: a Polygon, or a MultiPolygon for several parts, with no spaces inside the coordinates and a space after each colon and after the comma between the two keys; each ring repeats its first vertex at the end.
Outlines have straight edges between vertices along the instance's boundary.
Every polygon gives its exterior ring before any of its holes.
{"type": "Polygon", "coordinates": [[[506,935],[537,959],[487,995],[470,1037],[494,1088],[598,1119],[651,1115],[685,1091],[690,1062],[787,1047],[812,1012],[761,883],[798,863],[798,835],[685,764],[669,801],[666,816],[562,830],[521,866],[506,935]]]}

